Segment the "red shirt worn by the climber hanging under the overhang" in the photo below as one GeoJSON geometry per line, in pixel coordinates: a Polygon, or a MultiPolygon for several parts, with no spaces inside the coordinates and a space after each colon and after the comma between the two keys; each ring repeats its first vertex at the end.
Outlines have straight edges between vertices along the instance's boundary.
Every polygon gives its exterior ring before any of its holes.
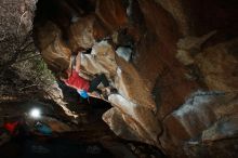
{"type": "Polygon", "coordinates": [[[65,83],[68,87],[75,88],[77,90],[85,90],[89,91],[90,82],[78,75],[78,73],[74,69],[71,76],[65,80],[65,83]]]}

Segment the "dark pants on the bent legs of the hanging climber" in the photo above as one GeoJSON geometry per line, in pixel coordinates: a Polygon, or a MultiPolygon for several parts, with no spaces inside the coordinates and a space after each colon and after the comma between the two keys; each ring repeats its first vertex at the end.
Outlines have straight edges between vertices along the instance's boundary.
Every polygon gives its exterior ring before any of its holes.
{"type": "Polygon", "coordinates": [[[96,76],[96,77],[90,82],[89,92],[97,91],[97,92],[102,93],[101,90],[97,89],[97,87],[98,87],[98,84],[100,84],[101,82],[104,84],[105,88],[109,85],[106,76],[105,76],[104,74],[101,74],[101,75],[96,76]]]}

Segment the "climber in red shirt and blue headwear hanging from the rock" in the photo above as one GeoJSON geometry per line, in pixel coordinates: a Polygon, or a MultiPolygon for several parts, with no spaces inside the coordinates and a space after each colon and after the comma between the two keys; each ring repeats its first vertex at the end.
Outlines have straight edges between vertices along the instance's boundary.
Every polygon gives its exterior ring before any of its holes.
{"type": "Polygon", "coordinates": [[[76,89],[82,97],[88,97],[88,94],[94,97],[101,97],[102,91],[97,87],[103,83],[106,88],[109,87],[108,80],[104,74],[96,75],[91,81],[79,76],[80,73],[80,62],[81,62],[81,52],[76,56],[76,66],[74,68],[74,57],[70,60],[70,67],[66,70],[66,76],[62,75],[61,79],[65,82],[66,85],[76,89]]]}

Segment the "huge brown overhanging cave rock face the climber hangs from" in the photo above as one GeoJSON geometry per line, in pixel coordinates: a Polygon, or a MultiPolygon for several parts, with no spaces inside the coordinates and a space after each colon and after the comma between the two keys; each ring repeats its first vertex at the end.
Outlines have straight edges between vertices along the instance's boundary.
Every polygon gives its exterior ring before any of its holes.
{"type": "Polygon", "coordinates": [[[103,115],[117,135],[170,157],[237,157],[237,1],[83,2],[52,0],[44,16],[48,3],[38,3],[36,42],[52,70],[92,49],[83,71],[104,73],[118,89],[103,115]],[[132,50],[129,62],[120,47],[132,50]]]}

